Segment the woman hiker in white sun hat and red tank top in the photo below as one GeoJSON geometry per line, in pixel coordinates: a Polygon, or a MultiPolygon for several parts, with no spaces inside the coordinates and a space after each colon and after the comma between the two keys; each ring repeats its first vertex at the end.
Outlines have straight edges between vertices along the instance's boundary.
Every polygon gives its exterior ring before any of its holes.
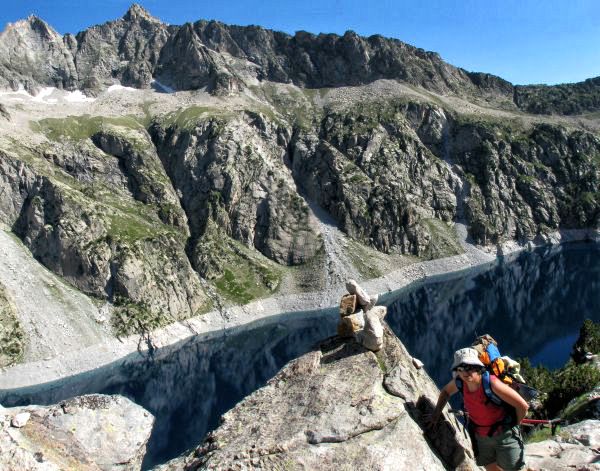
{"type": "Polygon", "coordinates": [[[484,390],[487,373],[473,348],[454,353],[452,372],[454,379],[440,391],[429,426],[437,425],[450,396],[460,391],[477,464],[487,471],[522,469],[524,446],[519,424],[527,414],[527,402],[496,376],[489,375],[489,389],[502,402],[495,404],[488,397],[489,391],[484,390]]]}

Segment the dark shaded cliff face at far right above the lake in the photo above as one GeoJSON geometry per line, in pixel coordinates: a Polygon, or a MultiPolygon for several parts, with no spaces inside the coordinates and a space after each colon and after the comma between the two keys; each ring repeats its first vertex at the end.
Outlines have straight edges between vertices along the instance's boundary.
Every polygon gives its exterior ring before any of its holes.
{"type": "Polygon", "coordinates": [[[532,240],[559,227],[600,223],[600,140],[539,125],[525,133],[453,127],[451,153],[470,186],[466,217],[479,243],[532,240]],[[498,132],[500,131],[500,132],[498,132]]]}

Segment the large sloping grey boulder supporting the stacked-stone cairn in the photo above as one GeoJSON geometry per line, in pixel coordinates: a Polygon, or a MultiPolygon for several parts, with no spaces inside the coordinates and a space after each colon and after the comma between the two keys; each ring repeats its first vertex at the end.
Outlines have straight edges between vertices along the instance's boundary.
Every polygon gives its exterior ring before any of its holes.
{"type": "Polygon", "coordinates": [[[423,414],[438,390],[385,328],[376,354],[326,340],[222,418],[193,454],[161,469],[475,469],[454,418],[435,435],[423,414]]]}

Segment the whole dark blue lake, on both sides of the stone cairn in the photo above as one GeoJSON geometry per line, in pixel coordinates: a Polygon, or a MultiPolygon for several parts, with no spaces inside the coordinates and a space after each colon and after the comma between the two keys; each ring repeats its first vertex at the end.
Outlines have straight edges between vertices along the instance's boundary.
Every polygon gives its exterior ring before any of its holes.
{"type": "MultiPolygon", "coordinates": [[[[341,293],[340,293],[341,294],[341,293]]],[[[382,298],[387,321],[438,384],[452,352],[490,333],[503,354],[550,368],[568,358],[585,318],[600,321],[600,245],[568,244],[489,267],[414,283],[382,298]]],[[[219,417],[264,386],[285,363],[335,333],[336,309],[197,336],[156,352],[24,390],[0,391],[4,406],[51,404],[80,394],[122,394],[152,412],[144,467],[202,441],[219,417]]]]}

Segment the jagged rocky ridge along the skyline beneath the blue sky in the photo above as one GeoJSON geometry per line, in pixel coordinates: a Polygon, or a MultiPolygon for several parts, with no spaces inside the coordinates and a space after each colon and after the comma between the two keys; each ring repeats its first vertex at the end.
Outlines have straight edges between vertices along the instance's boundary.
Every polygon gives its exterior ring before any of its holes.
{"type": "Polygon", "coordinates": [[[0,52],[0,86],[32,92],[54,86],[97,94],[115,82],[147,88],[156,79],[175,90],[206,87],[228,94],[264,81],[323,88],[393,79],[530,113],[577,114],[599,106],[597,78],[551,87],[513,86],[380,35],[299,31],[291,36],[206,20],[172,26],[137,4],[123,18],[76,35],[61,36],[31,16],[7,27],[0,52]]]}

